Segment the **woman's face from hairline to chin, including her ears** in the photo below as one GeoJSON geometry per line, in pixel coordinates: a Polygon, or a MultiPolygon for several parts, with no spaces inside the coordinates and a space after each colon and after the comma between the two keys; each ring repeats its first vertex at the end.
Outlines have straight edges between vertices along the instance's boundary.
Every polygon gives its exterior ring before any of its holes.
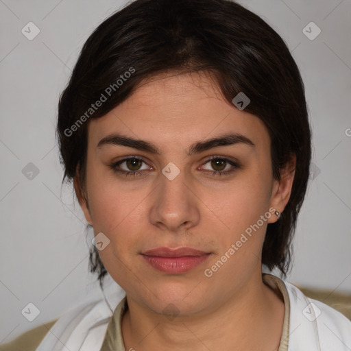
{"type": "Polygon", "coordinates": [[[272,208],[284,209],[292,182],[274,180],[270,155],[263,122],[199,73],[154,77],[89,122],[88,207],[82,197],[80,204],[129,298],[156,313],[169,304],[205,313],[261,276],[267,223],[277,219],[272,208]],[[206,255],[144,255],[157,247],[206,255]]]}

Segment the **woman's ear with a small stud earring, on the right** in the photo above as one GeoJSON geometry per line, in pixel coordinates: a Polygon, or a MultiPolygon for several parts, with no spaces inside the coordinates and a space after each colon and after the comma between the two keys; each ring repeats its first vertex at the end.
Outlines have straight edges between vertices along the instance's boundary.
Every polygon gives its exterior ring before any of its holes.
{"type": "MultiPolygon", "coordinates": [[[[280,169],[280,180],[274,180],[270,208],[273,207],[279,213],[282,213],[289,202],[293,179],[295,177],[296,155],[292,154],[289,162],[283,169],[280,169]]],[[[276,216],[271,216],[268,223],[274,223],[278,220],[276,216]]]]}

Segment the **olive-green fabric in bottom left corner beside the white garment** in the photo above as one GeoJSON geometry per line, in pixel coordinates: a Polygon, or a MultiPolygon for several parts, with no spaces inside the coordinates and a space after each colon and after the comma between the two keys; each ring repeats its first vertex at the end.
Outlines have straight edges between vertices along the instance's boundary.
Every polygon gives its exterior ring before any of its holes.
{"type": "Polygon", "coordinates": [[[58,319],[54,319],[41,326],[30,329],[27,332],[23,332],[23,334],[19,335],[19,337],[16,337],[14,340],[0,345],[0,351],[35,351],[45,335],[47,335],[47,332],[49,332],[50,328],[57,321],[58,319]]]}

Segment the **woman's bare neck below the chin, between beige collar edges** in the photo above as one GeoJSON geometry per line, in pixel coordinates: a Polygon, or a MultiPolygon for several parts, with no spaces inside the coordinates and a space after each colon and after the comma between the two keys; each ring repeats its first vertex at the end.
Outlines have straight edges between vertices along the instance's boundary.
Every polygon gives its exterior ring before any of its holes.
{"type": "Polygon", "coordinates": [[[125,350],[278,350],[285,307],[282,298],[253,276],[230,298],[201,315],[167,319],[127,296],[122,320],[125,350]]]}

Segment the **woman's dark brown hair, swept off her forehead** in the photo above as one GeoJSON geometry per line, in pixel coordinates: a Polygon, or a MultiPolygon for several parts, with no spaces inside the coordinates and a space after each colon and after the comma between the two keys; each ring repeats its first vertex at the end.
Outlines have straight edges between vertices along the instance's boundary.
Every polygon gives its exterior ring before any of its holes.
{"type": "MultiPolygon", "coordinates": [[[[95,29],[58,106],[63,181],[73,180],[79,169],[84,191],[88,118],[104,116],[143,80],[169,71],[208,72],[230,103],[239,92],[250,98],[245,111],[259,117],[271,137],[274,178],[280,179],[280,169],[295,154],[291,197],[280,219],[268,224],[262,253],[263,264],[286,275],[311,160],[304,84],[284,40],[238,3],[136,0],[95,29]],[[93,109],[102,95],[106,101],[93,109]]],[[[102,287],[107,271],[93,245],[90,271],[98,274],[102,287]]]]}

